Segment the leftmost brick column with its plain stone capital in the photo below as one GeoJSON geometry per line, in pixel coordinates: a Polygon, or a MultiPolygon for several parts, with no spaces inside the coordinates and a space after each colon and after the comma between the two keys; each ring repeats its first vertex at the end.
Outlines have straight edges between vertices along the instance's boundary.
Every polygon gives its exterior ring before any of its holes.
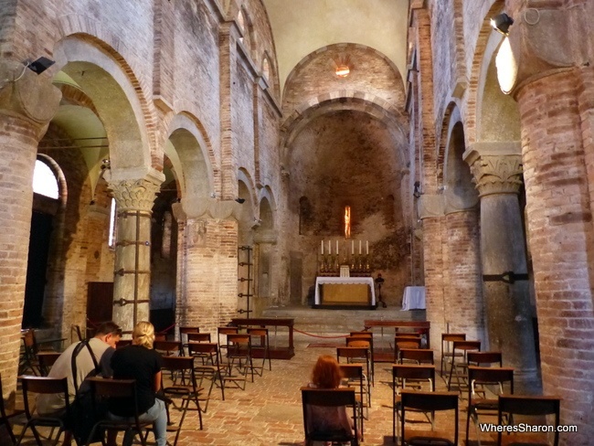
{"type": "Polygon", "coordinates": [[[22,64],[0,62],[0,373],[14,401],[27,278],[37,144],[60,92],[22,64]]]}

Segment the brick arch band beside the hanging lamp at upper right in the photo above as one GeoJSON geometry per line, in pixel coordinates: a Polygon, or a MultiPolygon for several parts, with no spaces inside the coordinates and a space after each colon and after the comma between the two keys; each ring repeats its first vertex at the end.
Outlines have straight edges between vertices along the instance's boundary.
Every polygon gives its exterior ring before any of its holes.
{"type": "Polygon", "coordinates": [[[478,96],[479,91],[483,89],[483,85],[480,82],[481,72],[483,69],[483,58],[485,50],[489,42],[489,38],[493,33],[493,27],[491,27],[490,17],[499,14],[505,7],[504,0],[495,0],[493,5],[489,8],[487,14],[483,17],[483,25],[479,31],[479,35],[476,40],[476,46],[474,48],[474,58],[472,59],[471,66],[471,79],[469,82],[468,89],[468,107],[465,113],[465,139],[466,145],[469,146],[477,141],[476,124],[478,116],[478,96]]]}

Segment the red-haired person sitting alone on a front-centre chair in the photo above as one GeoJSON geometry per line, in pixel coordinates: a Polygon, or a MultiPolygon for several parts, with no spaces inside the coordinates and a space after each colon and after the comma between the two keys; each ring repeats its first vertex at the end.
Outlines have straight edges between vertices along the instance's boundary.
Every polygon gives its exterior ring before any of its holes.
{"type": "MultiPolygon", "coordinates": [[[[320,356],[313,366],[311,388],[339,388],[342,380],[340,366],[334,356],[320,356]]],[[[342,435],[353,431],[353,420],[346,413],[346,408],[310,405],[308,411],[309,432],[324,432],[342,435]]]]}

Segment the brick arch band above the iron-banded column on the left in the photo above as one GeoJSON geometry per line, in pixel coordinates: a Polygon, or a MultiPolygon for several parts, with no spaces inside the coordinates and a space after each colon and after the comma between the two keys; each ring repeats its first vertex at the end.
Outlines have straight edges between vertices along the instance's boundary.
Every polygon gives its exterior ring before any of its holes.
{"type": "Polygon", "coordinates": [[[111,34],[105,27],[97,27],[96,21],[88,16],[69,14],[58,17],[58,38],[55,46],[67,37],[78,37],[92,46],[100,48],[103,52],[113,58],[116,64],[122,69],[127,80],[133,87],[135,97],[140,103],[143,115],[143,132],[146,133],[149,145],[151,165],[158,171],[163,170],[163,156],[159,150],[157,141],[157,119],[156,110],[152,98],[152,90],[148,80],[137,76],[135,73],[142,72],[136,67],[133,57],[126,57],[129,47],[122,43],[122,39],[111,34]]]}

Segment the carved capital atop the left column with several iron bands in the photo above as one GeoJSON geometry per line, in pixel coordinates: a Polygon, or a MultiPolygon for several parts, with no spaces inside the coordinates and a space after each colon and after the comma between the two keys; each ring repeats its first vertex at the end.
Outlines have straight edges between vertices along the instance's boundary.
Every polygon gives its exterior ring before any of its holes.
{"type": "Polygon", "coordinates": [[[114,178],[111,172],[106,174],[108,187],[120,210],[133,209],[151,212],[154,198],[161,188],[164,175],[150,172],[143,178],[114,178]]]}

